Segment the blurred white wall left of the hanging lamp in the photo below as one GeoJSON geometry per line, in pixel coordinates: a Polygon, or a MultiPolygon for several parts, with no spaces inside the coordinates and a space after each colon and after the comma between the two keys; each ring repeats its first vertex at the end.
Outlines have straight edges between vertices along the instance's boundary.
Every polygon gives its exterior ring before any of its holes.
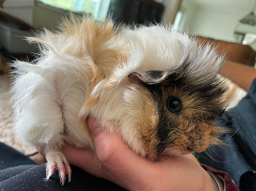
{"type": "Polygon", "coordinates": [[[200,5],[191,0],[183,0],[182,29],[190,34],[218,40],[235,41],[233,31],[238,20],[251,10],[228,9],[221,5],[200,5]]]}

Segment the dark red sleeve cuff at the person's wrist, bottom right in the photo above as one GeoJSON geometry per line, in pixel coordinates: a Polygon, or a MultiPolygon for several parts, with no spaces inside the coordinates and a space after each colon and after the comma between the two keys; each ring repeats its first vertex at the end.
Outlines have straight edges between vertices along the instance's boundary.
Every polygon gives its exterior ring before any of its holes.
{"type": "Polygon", "coordinates": [[[214,175],[220,175],[221,177],[223,177],[227,185],[227,191],[240,191],[227,172],[215,170],[212,167],[208,167],[205,164],[201,164],[201,167],[203,167],[205,170],[211,171],[212,173],[214,173],[214,175]]]}

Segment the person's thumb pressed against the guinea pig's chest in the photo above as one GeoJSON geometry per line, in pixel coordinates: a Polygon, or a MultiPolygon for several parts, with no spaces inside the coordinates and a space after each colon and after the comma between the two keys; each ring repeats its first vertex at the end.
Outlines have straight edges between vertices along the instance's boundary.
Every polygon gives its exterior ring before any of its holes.
{"type": "Polygon", "coordinates": [[[141,177],[149,175],[148,169],[152,162],[131,151],[119,135],[102,130],[104,128],[99,126],[96,119],[89,118],[88,124],[94,137],[98,159],[107,171],[118,177],[125,185],[142,186],[141,177]]]}

